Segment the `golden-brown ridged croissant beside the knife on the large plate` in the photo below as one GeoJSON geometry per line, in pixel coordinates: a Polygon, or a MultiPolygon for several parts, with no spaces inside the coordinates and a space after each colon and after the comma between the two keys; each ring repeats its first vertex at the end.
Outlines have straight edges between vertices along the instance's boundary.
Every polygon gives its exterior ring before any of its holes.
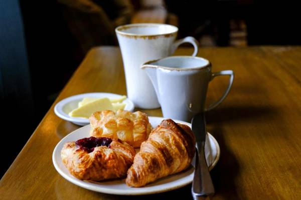
{"type": "Polygon", "coordinates": [[[195,154],[196,139],[188,125],[163,120],[142,142],[127,171],[126,184],[140,187],[186,169],[195,154]]]}

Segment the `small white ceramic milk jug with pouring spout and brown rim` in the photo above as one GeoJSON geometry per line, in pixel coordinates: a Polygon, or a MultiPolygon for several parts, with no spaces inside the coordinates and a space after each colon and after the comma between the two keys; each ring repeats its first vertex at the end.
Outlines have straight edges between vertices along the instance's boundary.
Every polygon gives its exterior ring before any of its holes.
{"type": "Polygon", "coordinates": [[[141,66],[152,80],[163,116],[191,121],[192,117],[219,105],[233,83],[232,70],[211,72],[210,62],[202,57],[170,56],[148,61],[141,66]],[[215,76],[229,75],[229,84],[215,103],[205,107],[208,83],[215,76]]]}

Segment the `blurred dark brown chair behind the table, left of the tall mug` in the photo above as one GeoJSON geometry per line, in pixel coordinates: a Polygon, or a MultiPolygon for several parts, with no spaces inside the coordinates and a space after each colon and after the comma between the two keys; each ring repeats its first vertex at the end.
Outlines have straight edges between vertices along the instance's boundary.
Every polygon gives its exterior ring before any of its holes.
{"type": "Polygon", "coordinates": [[[129,23],[128,0],[58,0],[65,20],[84,53],[97,45],[117,45],[115,27],[129,23]]]}

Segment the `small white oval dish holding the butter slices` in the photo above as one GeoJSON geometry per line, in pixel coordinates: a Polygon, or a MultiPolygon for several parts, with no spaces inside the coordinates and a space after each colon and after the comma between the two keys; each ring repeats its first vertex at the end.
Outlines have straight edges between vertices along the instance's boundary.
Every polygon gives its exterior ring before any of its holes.
{"type": "MultiPolygon", "coordinates": [[[[54,107],[54,112],[60,118],[65,119],[67,121],[71,121],[77,125],[87,125],[89,124],[89,119],[81,118],[81,117],[71,117],[68,115],[73,109],[78,107],[78,102],[81,101],[84,97],[94,97],[94,98],[120,98],[122,95],[114,94],[114,93],[104,93],[104,92],[94,92],[94,93],[83,93],[74,96],[70,96],[58,102],[54,107]]],[[[125,110],[133,111],[134,103],[126,98],[122,102],[125,103],[125,110]]]]}

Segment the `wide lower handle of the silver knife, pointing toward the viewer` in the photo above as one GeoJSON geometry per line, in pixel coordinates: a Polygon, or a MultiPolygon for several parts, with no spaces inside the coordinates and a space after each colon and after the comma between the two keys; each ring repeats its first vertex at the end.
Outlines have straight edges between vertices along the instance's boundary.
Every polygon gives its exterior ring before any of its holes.
{"type": "Polygon", "coordinates": [[[192,193],[197,196],[214,194],[214,186],[205,159],[205,141],[197,143],[195,174],[192,183],[192,193]]]}

